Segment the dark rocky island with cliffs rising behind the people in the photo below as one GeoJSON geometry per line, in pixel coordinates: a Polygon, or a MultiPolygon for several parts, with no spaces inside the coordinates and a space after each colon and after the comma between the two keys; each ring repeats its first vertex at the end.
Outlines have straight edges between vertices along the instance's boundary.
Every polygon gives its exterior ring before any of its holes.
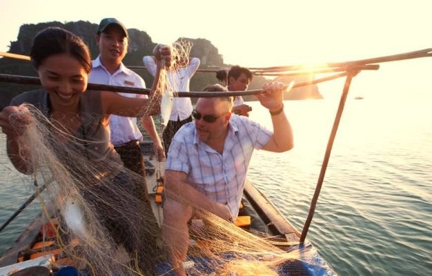
{"type": "MultiPolygon", "coordinates": [[[[99,54],[99,49],[96,45],[95,34],[97,32],[97,24],[90,23],[88,21],[75,21],[61,23],[58,21],[37,23],[37,24],[23,24],[19,28],[19,34],[17,41],[10,42],[10,50],[20,55],[29,55],[32,40],[37,32],[44,28],[61,27],[78,34],[90,49],[90,55],[92,59],[95,59],[99,54]]],[[[128,54],[124,59],[126,66],[143,66],[142,58],[146,55],[152,55],[153,48],[156,43],[152,41],[151,37],[142,30],[135,28],[128,29],[129,33],[129,50],[128,54]]],[[[179,37],[180,38],[180,37],[179,37]]],[[[219,66],[229,68],[231,64],[224,63],[224,58],[219,54],[219,50],[207,39],[190,39],[184,37],[193,42],[193,48],[190,52],[191,57],[198,57],[201,60],[200,68],[209,68],[210,66],[219,66]]],[[[238,64],[242,66],[242,64],[238,64]]],[[[3,58],[0,59],[0,73],[1,74],[12,74],[12,75],[26,75],[26,76],[37,76],[35,70],[32,68],[30,62],[21,61],[15,59],[3,58]]],[[[137,73],[146,81],[149,85],[153,77],[146,70],[138,70],[137,73]]],[[[304,77],[277,77],[276,81],[282,81],[284,83],[290,83],[291,81],[305,81],[304,77]]],[[[269,81],[264,77],[254,76],[253,81],[248,89],[259,89],[262,88],[263,83],[269,81]]],[[[191,91],[201,91],[205,86],[210,83],[217,83],[215,73],[199,72],[190,81],[191,91]]],[[[19,85],[14,83],[0,83],[0,110],[4,106],[8,106],[10,99],[15,95],[27,90],[36,89],[38,86],[27,86],[19,85]]],[[[296,88],[290,92],[286,92],[284,99],[323,99],[320,91],[316,85],[306,86],[304,88],[296,88]]],[[[245,101],[256,101],[255,96],[245,96],[245,101]]]]}

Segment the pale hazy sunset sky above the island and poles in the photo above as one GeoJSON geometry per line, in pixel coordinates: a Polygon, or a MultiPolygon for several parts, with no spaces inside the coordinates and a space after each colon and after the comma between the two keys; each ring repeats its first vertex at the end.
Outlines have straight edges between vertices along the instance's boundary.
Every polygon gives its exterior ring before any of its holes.
{"type": "MultiPolygon", "coordinates": [[[[80,19],[99,23],[104,17],[117,17],[128,28],[144,30],[155,42],[206,38],[226,63],[250,67],[345,61],[432,48],[432,1],[400,2],[0,0],[0,51],[8,50],[23,23],[80,19]]],[[[361,83],[373,80],[363,84],[366,89],[382,83],[380,89],[415,85],[417,90],[428,86],[429,92],[431,70],[428,58],[389,63],[380,72],[364,72],[357,78],[361,83]]]]}

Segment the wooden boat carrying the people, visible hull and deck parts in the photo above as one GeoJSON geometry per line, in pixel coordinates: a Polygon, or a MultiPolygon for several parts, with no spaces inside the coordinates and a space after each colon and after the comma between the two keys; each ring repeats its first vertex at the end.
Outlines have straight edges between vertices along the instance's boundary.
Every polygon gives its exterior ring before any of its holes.
{"type": "MultiPolygon", "coordinates": [[[[151,145],[149,143],[141,144],[141,148],[146,159],[146,181],[150,202],[160,225],[163,219],[161,204],[155,199],[159,195],[157,193],[157,170],[160,168],[161,173],[163,173],[164,162],[157,164],[155,158],[150,156],[149,148],[151,148],[151,145]]],[[[259,235],[259,237],[271,237],[271,239],[277,240],[280,244],[294,244],[290,246],[285,245],[281,248],[287,252],[290,250],[300,252],[299,259],[295,259],[284,265],[281,268],[284,271],[280,275],[335,275],[334,271],[326,264],[310,243],[300,244],[300,233],[279,213],[271,201],[249,181],[246,181],[242,205],[243,208],[240,210],[239,215],[251,217],[251,224],[247,226],[248,231],[259,235]]],[[[64,264],[68,264],[66,262],[68,260],[61,260],[61,250],[59,248],[53,247],[52,243],[42,241],[41,228],[43,228],[44,221],[43,215],[39,214],[23,230],[23,233],[21,233],[3,257],[0,258],[0,275],[8,275],[7,273],[10,273],[10,271],[20,267],[23,268],[23,264],[37,258],[39,258],[39,261],[48,261],[48,259],[57,258],[57,262],[60,258],[60,263],[64,262],[64,264]],[[42,249],[43,245],[46,246],[45,249],[42,249]],[[43,259],[44,256],[46,259],[43,259]]],[[[199,262],[199,260],[197,261],[195,258],[195,262],[199,262]]],[[[169,269],[168,265],[162,264],[158,268],[158,272],[162,274],[166,272],[165,270],[169,269]]],[[[190,275],[194,274],[191,273],[190,275]]]]}

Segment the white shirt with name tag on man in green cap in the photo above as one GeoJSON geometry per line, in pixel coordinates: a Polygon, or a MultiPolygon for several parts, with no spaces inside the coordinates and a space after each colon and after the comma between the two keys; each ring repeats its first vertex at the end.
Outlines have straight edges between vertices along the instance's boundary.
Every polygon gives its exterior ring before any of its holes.
{"type": "MultiPolygon", "coordinates": [[[[123,63],[114,74],[110,74],[102,65],[100,56],[92,61],[92,71],[88,78],[89,83],[108,84],[111,86],[128,86],[146,88],[144,80],[137,73],[126,68],[123,63]]],[[[147,98],[147,95],[121,93],[124,97],[147,98]]],[[[142,140],[142,134],[137,126],[137,118],[111,115],[110,117],[111,143],[114,146],[128,143],[131,140],[142,140]]]]}

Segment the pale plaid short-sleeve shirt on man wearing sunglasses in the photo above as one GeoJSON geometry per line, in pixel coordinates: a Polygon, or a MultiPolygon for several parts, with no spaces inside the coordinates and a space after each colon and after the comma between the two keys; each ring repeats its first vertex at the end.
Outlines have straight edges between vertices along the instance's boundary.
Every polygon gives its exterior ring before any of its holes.
{"type": "Polygon", "coordinates": [[[199,140],[195,122],[176,133],[168,151],[166,170],[179,170],[186,182],[209,199],[226,204],[234,219],[239,213],[244,181],[254,149],[267,144],[273,133],[246,117],[232,115],[224,152],[199,140]]]}

